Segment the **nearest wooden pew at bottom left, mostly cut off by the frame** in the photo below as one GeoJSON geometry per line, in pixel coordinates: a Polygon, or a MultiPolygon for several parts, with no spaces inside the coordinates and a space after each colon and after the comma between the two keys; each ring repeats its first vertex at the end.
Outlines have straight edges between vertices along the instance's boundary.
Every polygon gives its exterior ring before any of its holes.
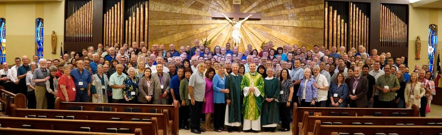
{"type": "Polygon", "coordinates": [[[135,129],[135,134],[80,132],[80,131],[56,131],[41,129],[1,128],[2,135],[142,135],[141,129],[135,129]]]}

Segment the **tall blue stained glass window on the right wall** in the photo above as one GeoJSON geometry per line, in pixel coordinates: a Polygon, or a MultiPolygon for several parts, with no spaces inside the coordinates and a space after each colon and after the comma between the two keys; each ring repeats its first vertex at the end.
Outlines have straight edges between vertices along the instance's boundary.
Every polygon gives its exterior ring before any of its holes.
{"type": "Polygon", "coordinates": [[[433,73],[434,56],[436,54],[436,47],[438,43],[438,26],[431,24],[428,29],[428,71],[433,73]]]}

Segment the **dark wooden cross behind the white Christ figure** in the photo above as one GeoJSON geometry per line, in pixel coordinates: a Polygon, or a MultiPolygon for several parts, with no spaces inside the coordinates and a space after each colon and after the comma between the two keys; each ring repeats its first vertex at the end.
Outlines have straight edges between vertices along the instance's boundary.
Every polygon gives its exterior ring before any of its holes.
{"type": "Polygon", "coordinates": [[[233,4],[233,12],[212,12],[212,18],[225,18],[222,14],[229,18],[235,19],[235,21],[240,21],[240,19],[246,18],[248,15],[252,14],[249,19],[262,19],[261,13],[241,13],[240,4],[233,4]]]}

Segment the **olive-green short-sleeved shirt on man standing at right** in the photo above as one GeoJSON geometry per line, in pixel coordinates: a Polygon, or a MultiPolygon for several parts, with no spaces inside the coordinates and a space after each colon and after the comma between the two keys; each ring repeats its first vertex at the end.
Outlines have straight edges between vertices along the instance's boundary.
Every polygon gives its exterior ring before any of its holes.
{"type": "MultiPolygon", "coordinates": [[[[397,79],[396,75],[381,75],[379,78],[377,78],[376,86],[381,87],[381,89],[385,88],[385,86],[388,86],[388,89],[392,88],[400,88],[399,85],[399,79],[397,79]]],[[[379,100],[380,101],[392,101],[395,98],[394,91],[390,91],[387,93],[382,92],[379,90],[379,100]]]]}

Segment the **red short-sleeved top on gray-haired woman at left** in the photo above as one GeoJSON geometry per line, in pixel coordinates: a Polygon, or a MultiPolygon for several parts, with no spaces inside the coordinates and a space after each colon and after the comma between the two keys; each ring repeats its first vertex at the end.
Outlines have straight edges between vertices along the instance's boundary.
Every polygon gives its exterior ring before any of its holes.
{"type": "Polygon", "coordinates": [[[72,88],[75,88],[74,79],[71,75],[69,75],[71,79],[68,78],[65,74],[61,75],[60,80],[58,80],[58,88],[60,90],[58,91],[57,97],[60,97],[63,101],[66,101],[65,95],[61,91],[60,85],[66,86],[66,92],[68,93],[69,101],[75,101],[75,95],[76,91],[74,91],[72,88]]]}

